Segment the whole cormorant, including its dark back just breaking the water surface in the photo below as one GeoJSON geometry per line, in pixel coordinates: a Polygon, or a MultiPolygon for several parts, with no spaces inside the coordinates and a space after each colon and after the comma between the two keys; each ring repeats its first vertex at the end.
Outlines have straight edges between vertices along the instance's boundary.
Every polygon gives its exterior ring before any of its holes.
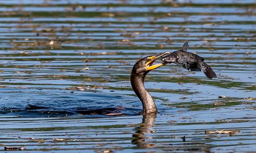
{"type": "MultiPolygon", "coordinates": [[[[160,59],[162,56],[165,56],[167,54],[170,54],[169,52],[165,52],[163,54],[160,54],[158,56],[148,56],[145,58],[140,59],[138,62],[136,62],[133,66],[133,70],[131,73],[131,84],[133,87],[134,92],[136,95],[139,97],[139,99],[142,101],[142,107],[143,107],[143,115],[147,114],[157,114],[157,107],[155,105],[154,98],[148,93],[148,91],[144,87],[144,78],[148,72],[150,72],[153,69],[156,69],[160,66],[163,66],[167,63],[159,63],[159,64],[154,64],[154,62],[157,59],[160,59]],[[154,64],[154,65],[153,65],[154,64]]],[[[51,108],[48,107],[40,107],[40,106],[34,106],[34,105],[29,105],[26,110],[29,111],[36,111],[38,112],[56,112],[56,111],[51,111],[51,108]],[[45,111],[42,111],[45,110],[45,111]]],[[[88,109],[88,108],[78,108],[74,109],[74,111],[71,112],[57,112],[57,114],[60,113],[65,113],[65,114],[73,114],[79,113],[83,115],[89,115],[89,114],[103,114],[103,115],[110,115],[110,114],[116,114],[119,115],[119,109],[118,108],[99,108],[99,109],[88,109]]],[[[49,115],[49,114],[47,114],[49,115]]]]}

